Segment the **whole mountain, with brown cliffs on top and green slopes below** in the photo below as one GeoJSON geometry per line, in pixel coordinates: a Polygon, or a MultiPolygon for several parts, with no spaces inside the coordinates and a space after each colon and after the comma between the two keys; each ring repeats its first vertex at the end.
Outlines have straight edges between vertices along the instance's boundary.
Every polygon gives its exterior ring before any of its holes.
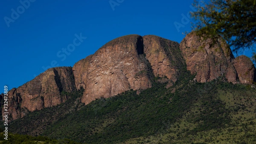
{"type": "Polygon", "coordinates": [[[228,131],[252,142],[255,81],[250,58],[234,58],[221,38],[126,35],[11,89],[9,130],[82,143],[204,143],[228,131]]]}

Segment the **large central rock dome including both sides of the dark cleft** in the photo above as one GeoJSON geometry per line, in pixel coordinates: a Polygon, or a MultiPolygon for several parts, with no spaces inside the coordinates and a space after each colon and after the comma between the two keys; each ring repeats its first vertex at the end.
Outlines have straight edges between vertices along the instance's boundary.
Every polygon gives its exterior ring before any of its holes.
{"type": "Polygon", "coordinates": [[[129,89],[147,89],[151,87],[151,75],[176,81],[184,63],[177,42],[153,35],[127,35],[80,60],[73,70],[76,88],[85,89],[81,101],[89,104],[129,89]]]}

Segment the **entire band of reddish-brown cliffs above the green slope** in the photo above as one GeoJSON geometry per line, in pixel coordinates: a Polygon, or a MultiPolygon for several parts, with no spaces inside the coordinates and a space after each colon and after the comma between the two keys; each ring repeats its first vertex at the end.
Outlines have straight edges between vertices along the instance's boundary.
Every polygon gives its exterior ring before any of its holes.
{"type": "Polygon", "coordinates": [[[171,85],[186,69],[196,74],[198,82],[221,76],[234,84],[256,81],[256,70],[250,59],[234,58],[222,39],[213,43],[190,33],[179,44],[154,35],[127,35],[106,43],[73,68],[48,69],[10,90],[10,120],[61,104],[69,98],[66,92],[81,87],[84,88],[81,102],[89,104],[96,98],[109,98],[130,89],[150,88],[158,76],[171,85]]]}

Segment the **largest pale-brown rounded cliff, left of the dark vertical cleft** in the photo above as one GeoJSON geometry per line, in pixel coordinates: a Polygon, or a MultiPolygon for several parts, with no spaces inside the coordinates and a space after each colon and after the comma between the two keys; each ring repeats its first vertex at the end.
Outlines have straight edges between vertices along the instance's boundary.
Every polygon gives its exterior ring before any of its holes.
{"type": "Polygon", "coordinates": [[[151,87],[149,68],[142,54],[142,37],[127,35],[111,40],[92,56],[76,63],[76,87],[85,88],[81,102],[89,104],[96,98],[151,87]]]}

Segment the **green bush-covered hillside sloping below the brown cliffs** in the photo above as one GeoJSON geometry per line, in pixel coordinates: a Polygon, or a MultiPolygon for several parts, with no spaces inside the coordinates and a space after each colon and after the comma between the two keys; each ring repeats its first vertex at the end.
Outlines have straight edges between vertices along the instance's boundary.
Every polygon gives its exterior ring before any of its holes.
{"type": "Polygon", "coordinates": [[[168,89],[156,82],[139,95],[130,90],[88,105],[79,104],[82,90],[66,93],[73,96],[64,104],[31,112],[9,129],[89,144],[255,143],[256,89],[194,78],[186,72],[168,89]]]}

